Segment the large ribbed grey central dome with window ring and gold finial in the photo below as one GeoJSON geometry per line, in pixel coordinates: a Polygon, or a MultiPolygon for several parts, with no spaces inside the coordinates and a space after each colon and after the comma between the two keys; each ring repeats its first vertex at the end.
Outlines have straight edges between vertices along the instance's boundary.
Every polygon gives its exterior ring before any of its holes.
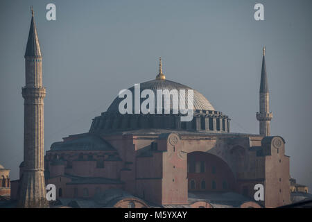
{"type": "MultiPolygon", "coordinates": [[[[140,95],[135,95],[135,86],[130,87],[129,90],[132,92],[132,113],[121,114],[119,112],[119,104],[125,98],[119,98],[117,96],[114,101],[110,104],[106,112],[103,112],[101,116],[95,117],[92,121],[92,126],[90,128],[90,133],[112,130],[135,130],[140,128],[157,128],[157,129],[171,129],[171,130],[195,130],[195,131],[212,131],[212,132],[229,132],[229,121],[230,119],[224,115],[222,112],[216,111],[211,103],[200,94],[200,92],[188,87],[187,85],[182,85],[171,80],[166,80],[166,76],[162,73],[162,60],[159,58],[159,74],[156,76],[155,80],[150,80],[145,83],[139,84],[140,95]],[[149,112],[148,114],[143,114],[140,112],[137,114],[134,112],[135,108],[135,98],[141,98],[141,92],[144,89],[150,89],[154,93],[155,99],[155,114],[149,112]],[[163,97],[162,99],[162,114],[157,112],[157,91],[162,89],[162,94],[170,100],[166,101],[163,97]],[[171,91],[176,89],[177,96],[171,94],[171,91]],[[184,93],[180,93],[181,89],[184,89],[184,93]],[[185,116],[184,112],[173,112],[179,110],[173,110],[173,104],[179,104],[179,99],[184,99],[185,109],[189,109],[188,105],[188,92],[193,90],[193,119],[191,121],[181,121],[181,117],[185,116]],[[168,96],[167,96],[168,95],[168,96]],[[169,97],[170,96],[170,97],[169,97]],[[181,97],[181,96],[184,96],[181,97]],[[170,104],[170,113],[165,114],[164,108],[170,104]]],[[[128,98],[127,98],[128,99],[128,98]]],[[[141,98],[141,103],[145,101],[146,98],[141,98]]],[[[130,101],[129,101],[130,102],[130,101]]],[[[180,107],[179,107],[180,108],[180,107]]],[[[189,114],[189,112],[188,112],[189,114]]],[[[192,116],[191,116],[192,117],[192,116]]]]}

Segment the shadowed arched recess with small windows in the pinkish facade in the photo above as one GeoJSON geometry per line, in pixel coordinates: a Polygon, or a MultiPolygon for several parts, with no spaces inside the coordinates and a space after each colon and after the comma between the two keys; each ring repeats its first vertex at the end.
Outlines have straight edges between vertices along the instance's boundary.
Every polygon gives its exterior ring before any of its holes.
{"type": "Polygon", "coordinates": [[[189,191],[234,191],[235,176],[220,157],[194,151],[187,154],[189,191]]]}

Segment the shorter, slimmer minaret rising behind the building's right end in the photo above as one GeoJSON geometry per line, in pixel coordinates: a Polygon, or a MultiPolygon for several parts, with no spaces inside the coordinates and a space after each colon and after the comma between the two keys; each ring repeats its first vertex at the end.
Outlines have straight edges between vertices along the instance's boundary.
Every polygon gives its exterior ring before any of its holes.
{"type": "Polygon", "coordinates": [[[259,133],[263,137],[270,136],[270,121],[273,117],[272,112],[269,109],[269,91],[268,91],[268,77],[266,76],[266,47],[263,47],[262,57],[262,70],[261,70],[261,83],[260,83],[260,98],[259,107],[260,110],[256,116],[259,123],[259,133]]]}

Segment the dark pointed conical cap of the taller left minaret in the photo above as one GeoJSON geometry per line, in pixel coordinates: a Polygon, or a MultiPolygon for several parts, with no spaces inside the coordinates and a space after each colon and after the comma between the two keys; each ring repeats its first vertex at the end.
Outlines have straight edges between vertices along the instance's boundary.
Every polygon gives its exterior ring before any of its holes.
{"type": "Polygon", "coordinates": [[[25,56],[42,56],[33,14],[33,6],[31,6],[31,28],[29,28],[25,56]]]}

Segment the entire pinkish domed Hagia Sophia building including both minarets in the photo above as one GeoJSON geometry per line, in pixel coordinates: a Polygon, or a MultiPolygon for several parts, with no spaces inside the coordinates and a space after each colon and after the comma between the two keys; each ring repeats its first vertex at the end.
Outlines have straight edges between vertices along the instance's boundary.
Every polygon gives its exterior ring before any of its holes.
{"type": "MultiPolygon", "coordinates": [[[[46,207],[45,185],[53,184],[55,206],[59,207],[260,208],[292,203],[292,191],[308,193],[308,189],[296,187],[290,176],[284,138],[270,135],[272,112],[265,54],[263,48],[259,112],[255,115],[259,121],[257,135],[232,133],[226,112],[215,110],[196,89],[192,121],[180,121],[182,114],[172,112],[120,114],[121,98],[117,96],[105,112],[92,119],[88,132],[64,137],[44,155],[46,91],[32,16],[22,91],[24,162],[19,165],[19,180],[13,181],[0,165],[0,196],[10,194],[18,207],[46,207]],[[254,199],[257,184],[264,187],[263,200],[254,199]]],[[[150,78],[140,84],[141,91],[151,89],[156,94],[157,89],[191,89],[168,80],[173,75],[165,76],[162,60],[158,74],[150,78]]]]}

